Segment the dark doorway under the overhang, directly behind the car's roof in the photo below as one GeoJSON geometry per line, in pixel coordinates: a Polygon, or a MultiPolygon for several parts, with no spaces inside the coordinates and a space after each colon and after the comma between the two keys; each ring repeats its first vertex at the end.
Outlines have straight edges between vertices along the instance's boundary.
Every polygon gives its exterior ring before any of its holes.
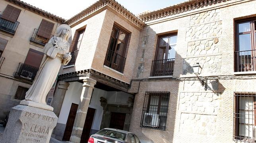
{"type": "Polygon", "coordinates": [[[125,116],[126,116],[126,113],[112,112],[109,128],[123,130],[125,116]]]}

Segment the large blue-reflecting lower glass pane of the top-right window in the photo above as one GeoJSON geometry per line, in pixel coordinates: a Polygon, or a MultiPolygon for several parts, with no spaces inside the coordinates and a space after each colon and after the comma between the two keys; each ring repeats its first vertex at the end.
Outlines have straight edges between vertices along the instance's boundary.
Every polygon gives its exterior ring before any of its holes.
{"type": "Polygon", "coordinates": [[[239,51],[251,50],[251,36],[250,34],[239,35],[239,51]]]}

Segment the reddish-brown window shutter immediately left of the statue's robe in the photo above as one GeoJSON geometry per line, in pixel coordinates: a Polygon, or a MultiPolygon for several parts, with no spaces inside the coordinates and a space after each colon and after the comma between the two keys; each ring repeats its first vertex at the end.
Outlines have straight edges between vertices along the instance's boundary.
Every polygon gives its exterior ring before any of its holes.
{"type": "Polygon", "coordinates": [[[44,54],[34,49],[29,49],[24,64],[39,68],[44,54]]]}

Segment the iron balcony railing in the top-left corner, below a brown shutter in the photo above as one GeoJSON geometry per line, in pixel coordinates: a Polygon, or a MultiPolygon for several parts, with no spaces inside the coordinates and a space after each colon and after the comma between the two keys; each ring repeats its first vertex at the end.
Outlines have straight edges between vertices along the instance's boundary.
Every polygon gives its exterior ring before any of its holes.
{"type": "Polygon", "coordinates": [[[2,19],[1,17],[2,15],[0,15],[0,29],[10,34],[15,34],[19,22],[16,21],[15,23],[13,23],[11,21],[2,19]]]}

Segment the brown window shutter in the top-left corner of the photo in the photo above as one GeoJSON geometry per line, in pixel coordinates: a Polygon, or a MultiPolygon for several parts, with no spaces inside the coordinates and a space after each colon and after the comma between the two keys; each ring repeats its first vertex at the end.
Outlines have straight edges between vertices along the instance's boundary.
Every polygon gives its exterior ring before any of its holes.
{"type": "Polygon", "coordinates": [[[7,5],[1,18],[15,23],[19,17],[20,11],[21,9],[7,5]]]}

